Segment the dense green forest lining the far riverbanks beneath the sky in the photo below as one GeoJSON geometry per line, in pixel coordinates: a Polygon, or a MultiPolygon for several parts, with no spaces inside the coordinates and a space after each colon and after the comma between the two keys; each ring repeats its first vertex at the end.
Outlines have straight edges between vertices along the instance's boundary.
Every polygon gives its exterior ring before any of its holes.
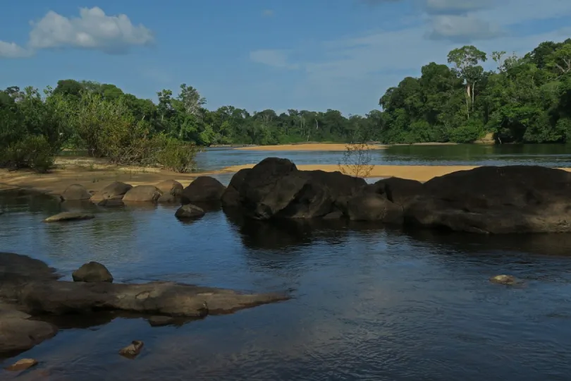
{"type": "Polygon", "coordinates": [[[140,99],[112,84],[59,80],[43,94],[26,87],[0,91],[0,164],[49,167],[63,148],[85,149],[118,164],[159,164],[188,171],[197,146],[307,141],[498,143],[571,141],[571,39],[542,42],[524,56],[465,46],[447,64],[429,63],[404,78],[365,116],[340,111],[232,106],[207,109],[192,86],[140,99]]]}

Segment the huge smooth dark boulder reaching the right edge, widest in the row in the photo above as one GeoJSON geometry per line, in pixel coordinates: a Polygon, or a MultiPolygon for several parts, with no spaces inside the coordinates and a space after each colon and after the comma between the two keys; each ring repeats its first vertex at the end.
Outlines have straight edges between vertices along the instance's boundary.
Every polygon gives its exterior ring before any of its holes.
{"type": "Polygon", "coordinates": [[[426,181],[405,222],[483,234],[571,232],[571,173],[479,167],[426,181]]]}

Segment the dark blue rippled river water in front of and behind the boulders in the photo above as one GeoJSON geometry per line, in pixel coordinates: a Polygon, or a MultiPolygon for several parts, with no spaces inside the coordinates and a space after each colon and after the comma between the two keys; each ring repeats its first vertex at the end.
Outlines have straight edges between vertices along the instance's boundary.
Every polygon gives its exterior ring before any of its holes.
{"type": "MultiPolygon", "coordinates": [[[[411,163],[422,163],[424,154],[395,148],[400,153],[393,162],[412,157],[411,163]]],[[[221,151],[224,157],[208,165],[242,164],[239,155],[247,156],[244,162],[258,155],[221,151]]],[[[287,153],[280,156],[297,155],[287,153]]],[[[304,155],[333,154],[338,152],[304,152],[296,162],[309,164],[304,155]]],[[[526,155],[509,162],[529,163],[532,155],[526,155]]],[[[563,166],[566,155],[537,161],[563,166]]],[[[446,161],[446,155],[432,157],[424,163],[446,161]]],[[[461,161],[448,156],[448,162],[455,160],[461,161]]],[[[95,219],[43,224],[61,205],[19,192],[0,193],[0,208],[0,251],[44,260],[66,279],[82,263],[97,260],[116,282],[171,280],[293,296],[180,327],[150,327],[142,318],[114,315],[59,322],[63,329],[54,339],[18,356],[40,361],[36,371],[49,373],[42,380],[571,377],[568,235],[484,237],[376,224],[268,224],[221,211],[184,224],[173,217],[175,207],[160,205],[87,207],[95,219]],[[489,283],[503,273],[524,285],[489,283]],[[141,355],[134,361],[118,356],[133,339],[145,341],[141,355]]]]}

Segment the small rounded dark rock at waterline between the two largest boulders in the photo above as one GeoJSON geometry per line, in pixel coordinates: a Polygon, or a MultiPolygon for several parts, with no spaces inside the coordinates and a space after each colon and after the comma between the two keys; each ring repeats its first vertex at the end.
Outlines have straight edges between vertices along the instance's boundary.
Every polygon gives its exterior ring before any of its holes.
{"type": "Polygon", "coordinates": [[[379,221],[386,224],[403,224],[403,207],[389,201],[386,195],[364,193],[347,202],[347,217],[352,221],[379,221]]]}

